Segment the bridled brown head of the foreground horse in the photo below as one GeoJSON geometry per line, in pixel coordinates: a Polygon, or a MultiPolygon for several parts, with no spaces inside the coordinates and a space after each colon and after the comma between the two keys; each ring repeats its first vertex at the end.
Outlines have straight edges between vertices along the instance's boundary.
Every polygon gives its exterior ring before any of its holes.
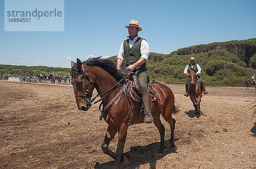
{"type": "Polygon", "coordinates": [[[77,107],[79,110],[87,111],[91,106],[91,97],[95,87],[85,71],[85,66],[78,58],[76,64],[71,61],[71,75],[77,107]]]}

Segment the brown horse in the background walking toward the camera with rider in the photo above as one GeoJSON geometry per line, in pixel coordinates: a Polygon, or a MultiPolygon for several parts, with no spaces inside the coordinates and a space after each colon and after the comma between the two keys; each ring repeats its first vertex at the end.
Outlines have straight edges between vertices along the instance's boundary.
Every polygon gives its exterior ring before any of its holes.
{"type": "Polygon", "coordinates": [[[202,98],[202,92],[201,84],[198,82],[198,79],[196,79],[195,71],[189,69],[189,97],[190,100],[193,103],[193,106],[195,107],[195,113],[199,117],[201,115],[200,111],[200,102],[202,98]]]}

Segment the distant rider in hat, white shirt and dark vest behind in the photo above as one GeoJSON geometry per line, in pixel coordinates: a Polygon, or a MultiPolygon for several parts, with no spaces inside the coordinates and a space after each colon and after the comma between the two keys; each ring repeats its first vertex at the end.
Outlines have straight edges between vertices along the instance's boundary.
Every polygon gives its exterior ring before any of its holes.
{"type": "MultiPolygon", "coordinates": [[[[186,68],[184,69],[184,74],[186,74],[186,76],[189,76],[188,69],[195,71],[195,76],[199,80],[199,82],[201,82],[203,90],[204,90],[204,94],[207,94],[208,92],[205,89],[204,81],[199,76],[199,74],[201,74],[201,67],[197,63],[195,63],[195,58],[194,57],[191,57],[189,59],[189,62],[190,62],[190,64],[186,65],[186,68]]],[[[189,94],[188,94],[188,83],[189,83],[189,78],[186,81],[186,93],[183,94],[186,97],[189,96],[189,94]]]]}

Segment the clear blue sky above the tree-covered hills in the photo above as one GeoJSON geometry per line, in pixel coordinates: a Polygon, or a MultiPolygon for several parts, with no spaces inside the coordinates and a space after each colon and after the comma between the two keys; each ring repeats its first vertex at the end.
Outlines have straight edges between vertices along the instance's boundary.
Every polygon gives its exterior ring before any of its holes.
{"type": "Polygon", "coordinates": [[[0,64],[70,68],[76,58],[114,56],[131,19],[151,52],[256,37],[256,0],[65,0],[64,31],[4,31],[0,0],[0,64]]]}

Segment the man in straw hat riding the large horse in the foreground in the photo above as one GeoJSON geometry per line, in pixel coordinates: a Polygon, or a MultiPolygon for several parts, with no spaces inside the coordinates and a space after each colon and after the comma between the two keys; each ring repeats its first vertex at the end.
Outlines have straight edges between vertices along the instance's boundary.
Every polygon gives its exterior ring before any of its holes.
{"type": "Polygon", "coordinates": [[[148,92],[148,79],[146,61],[149,56],[149,46],[145,39],[138,37],[138,32],[142,30],[137,20],[131,20],[128,28],[128,39],[125,39],[120,47],[117,58],[117,70],[120,70],[123,60],[125,59],[125,67],[127,71],[134,72],[140,81],[143,105],[145,107],[145,123],[151,123],[153,117],[151,115],[151,97],[148,92]]]}

